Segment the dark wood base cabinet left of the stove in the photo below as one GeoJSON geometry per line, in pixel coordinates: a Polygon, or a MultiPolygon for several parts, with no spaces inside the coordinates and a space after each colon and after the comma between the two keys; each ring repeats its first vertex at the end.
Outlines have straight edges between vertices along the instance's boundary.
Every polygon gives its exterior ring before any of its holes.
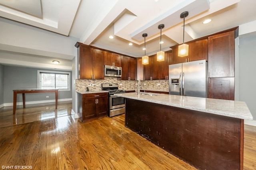
{"type": "Polygon", "coordinates": [[[108,113],[108,93],[78,94],[78,115],[81,121],[108,113]]]}

